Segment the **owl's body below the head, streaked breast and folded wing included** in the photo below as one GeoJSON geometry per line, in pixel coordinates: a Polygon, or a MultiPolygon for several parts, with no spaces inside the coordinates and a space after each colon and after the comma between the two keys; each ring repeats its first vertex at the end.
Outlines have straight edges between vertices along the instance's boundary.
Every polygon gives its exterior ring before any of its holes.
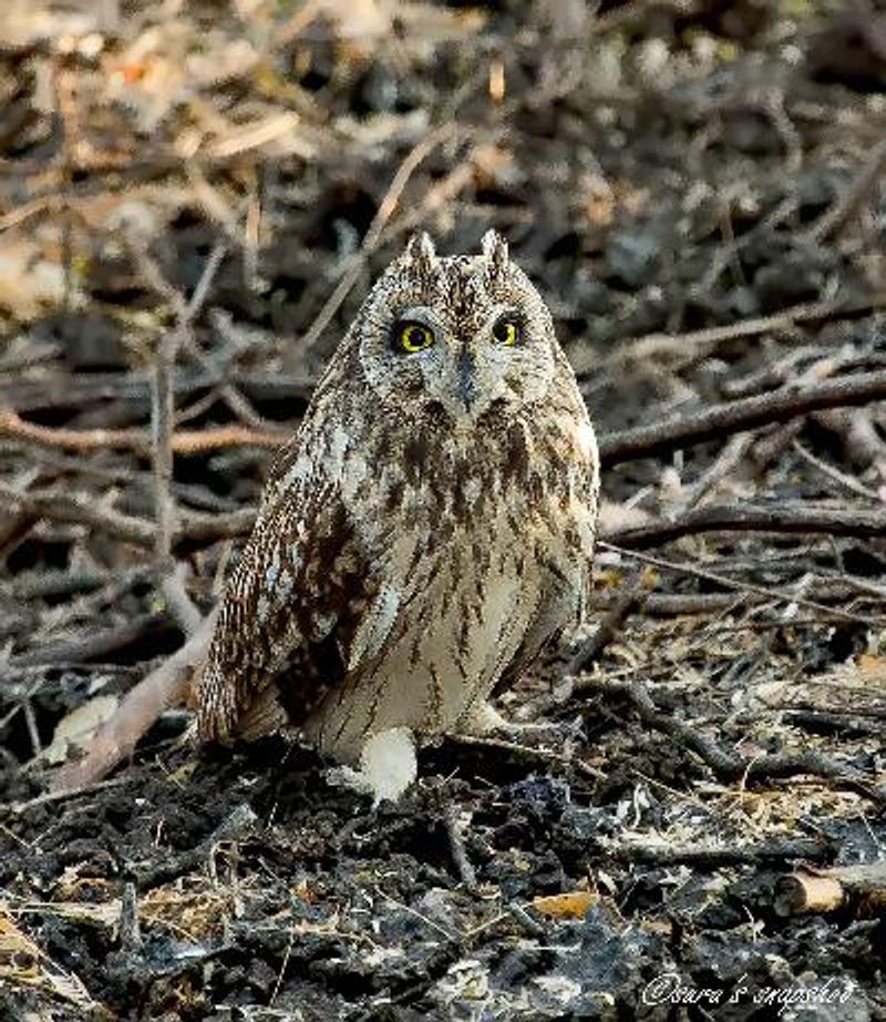
{"type": "Polygon", "coordinates": [[[518,676],[580,616],[594,546],[594,435],[573,379],[550,398],[471,436],[381,412],[361,433],[321,392],[225,594],[199,734],[307,723],[336,748],[451,726],[518,676]]]}

